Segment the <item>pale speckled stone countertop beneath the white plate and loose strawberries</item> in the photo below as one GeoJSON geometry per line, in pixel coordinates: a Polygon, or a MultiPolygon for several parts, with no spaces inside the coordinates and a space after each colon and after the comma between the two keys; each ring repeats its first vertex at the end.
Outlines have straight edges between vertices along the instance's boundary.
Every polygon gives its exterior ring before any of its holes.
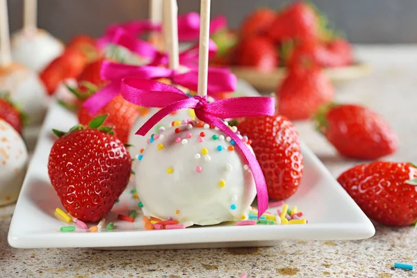
{"type": "MultiPolygon", "coordinates": [[[[397,131],[394,161],[417,161],[417,46],[357,47],[373,74],[338,88],[337,100],[361,102],[381,113],[397,131]]],[[[297,124],[304,141],[336,177],[355,161],[345,161],[314,133],[297,124]]],[[[17,250],[7,243],[14,206],[0,208],[0,277],[417,277],[393,262],[417,263],[413,227],[376,226],[357,241],[283,241],[275,247],[98,251],[92,249],[17,250]]]]}

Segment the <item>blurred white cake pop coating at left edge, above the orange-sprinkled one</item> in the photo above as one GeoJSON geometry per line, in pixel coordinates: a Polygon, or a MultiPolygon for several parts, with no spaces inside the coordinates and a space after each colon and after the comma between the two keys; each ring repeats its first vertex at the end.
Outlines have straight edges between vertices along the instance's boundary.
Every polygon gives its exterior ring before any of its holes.
{"type": "Polygon", "coordinates": [[[15,63],[0,67],[0,91],[10,93],[12,101],[28,115],[28,124],[42,123],[49,97],[36,72],[15,63]]]}

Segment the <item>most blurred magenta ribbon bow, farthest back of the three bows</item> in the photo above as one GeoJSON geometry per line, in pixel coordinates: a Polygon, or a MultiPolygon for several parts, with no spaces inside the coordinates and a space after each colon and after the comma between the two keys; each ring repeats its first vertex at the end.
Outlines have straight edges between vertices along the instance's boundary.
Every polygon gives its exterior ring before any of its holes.
{"type": "MultiPolygon", "coordinates": [[[[142,57],[147,57],[152,60],[152,63],[149,65],[167,65],[168,56],[165,53],[161,53],[154,47],[154,45],[144,40],[140,40],[131,33],[124,31],[124,29],[119,28],[115,32],[111,42],[113,44],[118,44],[126,49],[129,49],[133,53],[136,53],[142,57]]],[[[186,65],[188,67],[195,67],[198,63],[198,44],[182,51],[179,54],[179,63],[181,65],[186,65]]],[[[208,57],[213,57],[218,50],[217,45],[213,40],[208,42],[208,57]]]]}

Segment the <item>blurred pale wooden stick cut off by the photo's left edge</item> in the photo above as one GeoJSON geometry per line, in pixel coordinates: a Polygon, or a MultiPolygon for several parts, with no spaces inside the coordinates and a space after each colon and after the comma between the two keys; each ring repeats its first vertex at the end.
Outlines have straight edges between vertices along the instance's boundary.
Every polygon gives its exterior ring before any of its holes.
{"type": "Polygon", "coordinates": [[[10,54],[10,33],[8,26],[7,0],[0,0],[0,66],[12,63],[10,54]]]}

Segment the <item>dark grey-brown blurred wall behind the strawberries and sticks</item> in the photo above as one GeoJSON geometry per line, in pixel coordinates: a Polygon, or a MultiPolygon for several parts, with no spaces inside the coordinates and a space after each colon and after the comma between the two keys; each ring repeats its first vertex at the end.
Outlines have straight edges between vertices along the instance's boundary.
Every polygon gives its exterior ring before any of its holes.
{"type": "MultiPolygon", "coordinates": [[[[212,0],[211,15],[226,15],[232,27],[261,6],[279,8],[279,0],[212,0]]],[[[357,43],[417,42],[416,0],[312,0],[357,43]]],[[[38,0],[38,24],[63,40],[76,33],[101,35],[113,22],[147,17],[147,0],[38,0]]],[[[22,0],[8,0],[10,28],[22,26],[22,0]]],[[[178,0],[179,13],[199,10],[198,0],[178,0]]]]}

